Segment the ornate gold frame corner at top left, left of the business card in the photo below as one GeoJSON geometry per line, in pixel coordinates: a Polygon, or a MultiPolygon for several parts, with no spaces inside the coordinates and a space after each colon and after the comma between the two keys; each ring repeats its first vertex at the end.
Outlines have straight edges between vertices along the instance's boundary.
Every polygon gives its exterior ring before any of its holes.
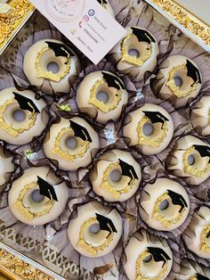
{"type": "Polygon", "coordinates": [[[35,11],[28,0],[4,2],[0,1],[0,55],[35,11]]]}

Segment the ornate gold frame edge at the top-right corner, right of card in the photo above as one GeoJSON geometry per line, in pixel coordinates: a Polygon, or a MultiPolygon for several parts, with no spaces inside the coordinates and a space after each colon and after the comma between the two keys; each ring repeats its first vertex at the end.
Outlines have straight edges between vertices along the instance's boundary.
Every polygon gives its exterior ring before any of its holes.
{"type": "MultiPolygon", "coordinates": [[[[210,52],[210,27],[173,0],[145,0],[188,37],[210,52]]],[[[210,6],[209,6],[210,8],[210,6]]]]}

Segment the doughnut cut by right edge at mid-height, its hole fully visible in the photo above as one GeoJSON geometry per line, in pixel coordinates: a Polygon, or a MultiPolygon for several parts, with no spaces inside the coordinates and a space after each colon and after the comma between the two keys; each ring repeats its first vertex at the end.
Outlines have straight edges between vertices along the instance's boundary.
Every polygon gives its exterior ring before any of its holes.
{"type": "Polygon", "coordinates": [[[210,145],[195,136],[183,136],[166,158],[166,169],[189,184],[198,185],[210,176],[210,145]]]}

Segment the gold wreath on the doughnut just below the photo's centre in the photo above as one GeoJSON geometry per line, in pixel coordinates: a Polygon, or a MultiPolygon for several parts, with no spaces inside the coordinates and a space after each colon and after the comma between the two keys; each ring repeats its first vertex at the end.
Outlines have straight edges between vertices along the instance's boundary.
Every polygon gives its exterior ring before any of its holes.
{"type": "Polygon", "coordinates": [[[100,187],[104,189],[105,191],[109,192],[112,194],[116,199],[120,198],[121,194],[127,194],[134,185],[135,178],[133,176],[133,173],[131,172],[132,175],[132,180],[129,185],[125,185],[123,189],[117,190],[117,186],[113,182],[109,182],[109,173],[112,169],[118,169],[120,168],[120,165],[118,162],[114,162],[109,164],[109,167],[104,171],[103,177],[102,177],[102,183],[100,187]]]}

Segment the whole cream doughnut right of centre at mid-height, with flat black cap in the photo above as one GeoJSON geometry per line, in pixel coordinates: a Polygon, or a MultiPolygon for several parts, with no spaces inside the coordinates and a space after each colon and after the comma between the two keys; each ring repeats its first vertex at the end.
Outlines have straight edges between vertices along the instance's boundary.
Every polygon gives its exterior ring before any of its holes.
{"type": "Polygon", "coordinates": [[[157,154],[171,142],[174,124],[165,109],[146,103],[125,116],[123,134],[129,146],[138,146],[143,154],[157,154]]]}

